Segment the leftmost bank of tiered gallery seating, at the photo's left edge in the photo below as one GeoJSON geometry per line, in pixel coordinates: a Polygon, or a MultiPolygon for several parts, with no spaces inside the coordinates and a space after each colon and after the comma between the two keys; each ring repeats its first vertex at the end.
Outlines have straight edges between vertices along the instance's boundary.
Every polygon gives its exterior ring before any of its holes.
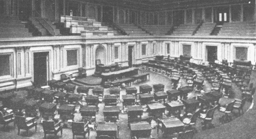
{"type": "Polygon", "coordinates": [[[0,38],[32,37],[26,23],[18,20],[16,16],[0,16],[0,38]]]}

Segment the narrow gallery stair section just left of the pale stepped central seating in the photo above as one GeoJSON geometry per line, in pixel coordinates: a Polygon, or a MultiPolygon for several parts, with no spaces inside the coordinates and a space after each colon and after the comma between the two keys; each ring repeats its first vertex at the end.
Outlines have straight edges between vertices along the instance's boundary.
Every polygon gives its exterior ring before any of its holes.
{"type": "Polygon", "coordinates": [[[60,35],[59,29],[52,24],[51,21],[45,18],[31,17],[30,21],[34,27],[40,32],[41,36],[58,36],[60,35]]]}

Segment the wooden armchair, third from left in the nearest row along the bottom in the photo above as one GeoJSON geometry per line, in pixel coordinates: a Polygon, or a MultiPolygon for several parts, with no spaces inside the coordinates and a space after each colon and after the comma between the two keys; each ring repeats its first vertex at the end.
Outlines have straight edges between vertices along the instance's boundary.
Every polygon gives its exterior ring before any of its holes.
{"type": "Polygon", "coordinates": [[[45,132],[45,138],[47,134],[54,134],[57,135],[57,133],[60,131],[60,134],[62,135],[62,126],[60,125],[61,121],[54,124],[54,121],[42,121],[42,127],[44,128],[45,132]]]}

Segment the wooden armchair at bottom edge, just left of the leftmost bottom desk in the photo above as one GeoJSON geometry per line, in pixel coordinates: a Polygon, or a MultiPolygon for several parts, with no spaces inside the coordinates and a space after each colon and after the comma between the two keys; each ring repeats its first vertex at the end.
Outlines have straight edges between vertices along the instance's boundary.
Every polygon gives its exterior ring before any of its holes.
{"type": "MultiPolygon", "coordinates": [[[[90,137],[90,128],[88,127],[89,121],[86,125],[83,122],[72,122],[72,132],[73,132],[73,139],[75,135],[82,135],[83,138],[86,138],[86,134],[88,133],[88,138],[90,137]]],[[[97,137],[96,137],[97,138],[97,137]]]]}

